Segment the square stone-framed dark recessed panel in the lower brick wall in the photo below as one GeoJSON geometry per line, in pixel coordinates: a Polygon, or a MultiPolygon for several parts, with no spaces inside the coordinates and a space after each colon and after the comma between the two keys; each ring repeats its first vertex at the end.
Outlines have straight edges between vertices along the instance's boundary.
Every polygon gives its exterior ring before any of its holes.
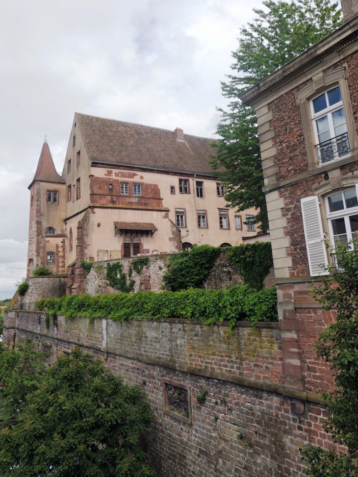
{"type": "Polygon", "coordinates": [[[190,388],[179,382],[163,379],[163,411],[191,424],[190,388]]]}

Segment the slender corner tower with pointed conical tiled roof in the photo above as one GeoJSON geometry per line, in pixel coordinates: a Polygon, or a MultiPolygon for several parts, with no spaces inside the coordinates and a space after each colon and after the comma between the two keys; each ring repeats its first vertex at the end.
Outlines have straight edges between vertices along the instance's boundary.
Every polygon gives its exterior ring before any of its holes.
{"type": "Polygon", "coordinates": [[[54,274],[66,271],[65,179],[57,174],[46,140],[30,190],[27,276],[39,266],[54,274]]]}

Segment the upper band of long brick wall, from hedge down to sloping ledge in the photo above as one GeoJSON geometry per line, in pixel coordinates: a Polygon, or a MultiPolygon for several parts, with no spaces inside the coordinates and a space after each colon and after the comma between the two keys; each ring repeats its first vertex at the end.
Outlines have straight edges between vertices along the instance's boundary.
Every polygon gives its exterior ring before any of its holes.
{"type": "Polygon", "coordinates": [[[104,358],[113,354],[305,401],[322,402],[314,393],[291,389],[285,384],[277,322],[261,322],[256,328],[250,322],[238,322],[231,333],[229,323],[225,322],[203,325],[198,320],[178,318],[125,322],[95,318],[90,322],[87,318],[66,320],[60,315],[55,325],[50,320],[47,329],[43,312],[19,310],[14,315],[16,320],[10,320],[10,316],[8,324],[5,320],[5,329],[17,329],[32,339],[77,345],[103,353],[104,358]]]}

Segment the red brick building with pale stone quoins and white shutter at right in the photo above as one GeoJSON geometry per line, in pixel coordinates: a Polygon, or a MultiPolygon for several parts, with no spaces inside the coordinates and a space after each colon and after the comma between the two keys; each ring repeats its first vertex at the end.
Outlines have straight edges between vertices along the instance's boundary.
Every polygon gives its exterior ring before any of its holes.
{"type": "Polygon", "coordinates": [[[344,25],[241,96],[257,115],[285,382],[307,392],[332,385],[314,342],[334,319],[309,289],[358,231],[357,0],[342,10],[344,25]]]}

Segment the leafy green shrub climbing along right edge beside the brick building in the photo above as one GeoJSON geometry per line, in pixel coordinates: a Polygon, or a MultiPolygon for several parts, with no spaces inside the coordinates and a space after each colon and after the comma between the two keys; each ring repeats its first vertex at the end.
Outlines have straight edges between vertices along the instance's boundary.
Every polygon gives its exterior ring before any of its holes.
{"type": "Polygon", "coordinates": [[[354,246],[347,251],[346,246],[337,245],[341,271],[328,267],[330,275],[323,276],[323,284],[312,291],[325,310],[337,308],[336,321],[319,337],[317,355],[330,363],[337,387],[332,396],[323,395],[330,413],[324,428],[350,455],[302,447],[310,477],[358,476],[358,242],[354,246]]]}

